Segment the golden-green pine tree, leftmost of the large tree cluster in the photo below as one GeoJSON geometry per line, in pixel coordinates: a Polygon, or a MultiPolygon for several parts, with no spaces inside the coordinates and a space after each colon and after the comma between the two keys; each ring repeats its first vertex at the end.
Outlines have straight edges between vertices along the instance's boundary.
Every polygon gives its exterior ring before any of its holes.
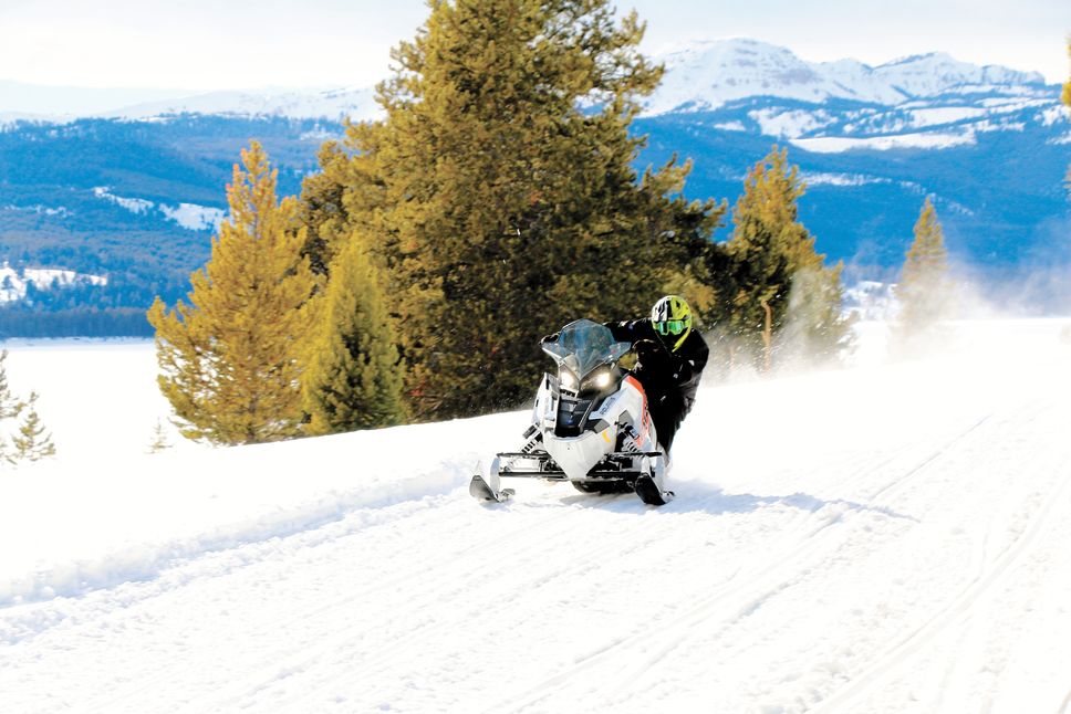
{"type": "Polygon", "coordinates": [[[229,219],[211,259],[190,276],[189,305],[157,298],[160,390],[183,435],[216,444],[294,437],[303,418],[299,355],[316,290],[301,255],[293,198],[275,199],[277,172],[253,141],[227,187],[229,219]]]}

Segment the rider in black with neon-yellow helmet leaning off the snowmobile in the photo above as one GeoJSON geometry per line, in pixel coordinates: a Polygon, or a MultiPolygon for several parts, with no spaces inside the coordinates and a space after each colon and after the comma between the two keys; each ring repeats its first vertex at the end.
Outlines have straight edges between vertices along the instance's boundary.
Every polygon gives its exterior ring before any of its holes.
{"type": "Polygon", "coordinates": [[[692,308],[684,297],[666,295],[651,308],[651,317],[605,325],[614,339],[633,344],[636,379],[647,393],[647,410],[668,456],[673,438],[695,403],[709,355],[706,340],[692,329],[692,308]]]}

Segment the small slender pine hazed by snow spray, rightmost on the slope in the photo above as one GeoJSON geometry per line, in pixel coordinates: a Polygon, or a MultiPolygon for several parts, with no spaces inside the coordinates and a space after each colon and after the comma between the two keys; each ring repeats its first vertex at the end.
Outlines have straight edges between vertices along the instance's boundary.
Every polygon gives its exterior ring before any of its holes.
{"type": "Polygon", "coordinates": [[[915,222],[915,240],[907,251],[900,284],[894,288],[900,314],[893,332],[894,349],[909,351],[932,340],[938,323],[954,309],[944,231],[929,197],[915,222]]]}

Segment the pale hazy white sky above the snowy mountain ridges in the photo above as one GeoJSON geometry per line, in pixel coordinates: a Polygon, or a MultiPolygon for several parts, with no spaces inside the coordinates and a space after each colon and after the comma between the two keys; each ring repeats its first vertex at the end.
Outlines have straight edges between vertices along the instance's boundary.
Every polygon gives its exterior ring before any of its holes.
{"type": "MultiPolygon", "coordinates": [[[[749,36],[804,60],[869,64],[933,50],[1069,73],[1071,0],[621,0],[645,49],[749,36]]],[[[184,90],[367,86],[423,0],[0,0],[0,80],[184,90]]]]}

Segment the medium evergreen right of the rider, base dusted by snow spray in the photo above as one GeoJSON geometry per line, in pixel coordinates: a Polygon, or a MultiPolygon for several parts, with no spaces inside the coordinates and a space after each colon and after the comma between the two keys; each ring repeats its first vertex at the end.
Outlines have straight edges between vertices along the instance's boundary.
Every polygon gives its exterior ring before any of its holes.
{"type": "Polygon", "coordinates": [[[727,329],[742,356],[767,370],[776,345],[824,360],[844,346],[850,329],[840,316],[841,266],[824,266],[814,238],[797,220],[804,188],[788,150],[774,146],[748,171],[732,212],[727,329]],[[782,336],[790,322],[793,329],[782,336]]]}

